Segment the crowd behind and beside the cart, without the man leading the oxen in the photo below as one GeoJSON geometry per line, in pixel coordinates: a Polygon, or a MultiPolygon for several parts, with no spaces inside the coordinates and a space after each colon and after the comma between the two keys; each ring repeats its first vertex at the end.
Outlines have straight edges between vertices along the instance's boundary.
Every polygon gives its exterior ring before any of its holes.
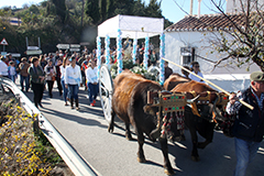
{"type": "MultiPolygon", "coordinates": [[[[128,57],[132,58],[132,52],[130,56],[125,55],[125,50],[132,47],[131,43],[127,44],[122,48],[123,59],[128,57]],[[129,44],[129,45],[128,45],[129,44]]],[[[131,50],[131,48],[130,48],[131,50]]],[[[144,43],[136,46],[135,63],[143,64],[145,46],[144,43]]],[[[101,63],[106,62],[105,50],[101,48],[101,63]]],[[[160,58],[154,50],[154,45],[151,43],[147,53],[147,65],[156,66],[160,58]]],[[[110,65],[117,62],[117,48],[113,46],[110,50],[110,65]]],[[[202,77],[199,72],[199,64],[193,63],[191,69],[202,77]]],[[[173,69],[168,67],[168,63],[165,62],[165,79],[173,74],[173,69]]],[[[186,77],[196,79],[196,77],[188,76],[188,73],[183,73],[186,77]]],[[[97,69],[97,51],[88,51],[85,47],[80,53],[69,53],[68,51],[56,51],[54,54],[43,54],[38,56],[31,56],[29,58],[22,57],[21,61],[14,59],[11,54],[1,56],[0,61],[0,76],[8,77],[15,82],[15,79],[20,75],[21,90],[28,92],[31,88],[34,92],[34,103],[36,107],[42,107],[41,99],[43,91],[46,89],[50,98],[53,98],[54,82],[56,81],[59,96],[63,96],[65,106],[70,103],[70,107],[75,107],[78,110],[78,90],[79,87],[85,86],[85,90],[88,90],[89,103],[95,106],[98,95],[98,69],[97,69]]]]}

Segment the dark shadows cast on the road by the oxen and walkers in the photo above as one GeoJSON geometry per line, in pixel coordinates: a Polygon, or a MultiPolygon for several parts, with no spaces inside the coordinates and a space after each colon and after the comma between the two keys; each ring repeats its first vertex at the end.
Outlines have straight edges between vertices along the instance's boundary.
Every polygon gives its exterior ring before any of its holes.
{"type": "MultiPolygon", "coordinates": [[[[31,100],[32,100],[32,91],[25,94],[31,100]]],[[[61,99],[63,103],[62,97],[58,96],[58,92],[54,91],[54,98],[53,99],[61,99]]],[[[44,96],[44,102],[43,106],[48,106],[48,97],[45,92],[44,96]]],[[[89,107],[88,106],[88,99],[87,99],[87,92],[84,90],[80,90],[79,92],[79,103],[80,103],[80,111],[76,112],[76,114],[68,114],[67,112],[64,112],[59,109],[52,109],[52,108],[43,108],[41,109],[42,112],[48,113],[52,116],[56,116],[59,118],[64,118],[70,121],[75,121],[80,124],[85,125],[96,125],[103,129],[107,129],[108,127],[105,124],[101,124],[97,120],[92,120],[89,118],[89,116],[99,116],[99,118],[103,119],[102,110],[98,107],[100,107],[100,102],[97,101],[97,107],[89,107]],[[77,113],[81,113],[81,117],[77,113]]],[[[69,107],[65,107],[69,108],[69,107]]],[[[76,111],[76,110],[73,110],[76,111]]],[[[121,132],[114,132],[113,135],[125,138],[124,133],[124,123],[116,118],[114,119],[114,128],[121,130],[121,132]]],[[[107,132],[107,130],[106,130],[107,132]]],[[[136,141],[136,134],[134,133],[133,128],[131,127],[131,132],[133,136],[133,141],[128,141],[128,144],[130,142],[138,143],[136,141]]],[[[190,154],[191,154],[191,139],[189,135],[189,131],[185,131],[186,141],[178,142],[178,143],[168,143],[168,153],[170,157],[174,157],[174,160],[170,160],[172,166],[175,169],[175,175],[177,176],[222,176],[222,175],[232,175],[233,168],[235,166],[235,152],[234,152],[234,142],[233,139],[227,138],[223,134],[219,132],[215,132],[213,142],[210,143],[205,150],[199,150],[199,162],[193,162],[190,154]]],[[[202,138],[199,136],[199,141],[204,141],[202,138]]],[[[151,142],[147,138],[145,139],[145,145],[144,146],[151,146],[154,148],[157,148],[161,157],[162,157],[162,151],[160,150],[160,143],[158,142],[151,142]]],[[[144,147],[146,153],[146,147],[144,147]]],[[[129,152],[129,151],[128,151],[129,152]]],[[[135,155],[136,157],[136,155],[135,155]]],[[[163,167],[163,163],[155,163],[152,160],[152,156],[146,155],[147,162],[146,165],[154,165],[157,167],[163,167]]],[[[249,165],[246,176],[262,176],[263,173],[263,160],[264,158],[264,143],[262,143],[258,153],[253,161],[253,164],[249,165]]],[[[133,158],[129,158],[133,160],[133,158]]]]}

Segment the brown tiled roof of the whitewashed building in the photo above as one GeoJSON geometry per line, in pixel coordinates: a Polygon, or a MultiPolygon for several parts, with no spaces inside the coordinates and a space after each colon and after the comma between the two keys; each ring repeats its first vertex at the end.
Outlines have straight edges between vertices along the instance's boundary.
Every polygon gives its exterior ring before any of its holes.
{"type": "MultiPolygon", "coordinates": [[[[244,24],[244,15],[227,14],[234,23],[244,24]]],[[[233,24],[227,20],[223,14],[205,14],[200,18],[185,16],[183,20],[174,23],[165,29],[166,32],[184,32],[184,31],[218,31],[221,29],[232,30],[233,24]]]]}

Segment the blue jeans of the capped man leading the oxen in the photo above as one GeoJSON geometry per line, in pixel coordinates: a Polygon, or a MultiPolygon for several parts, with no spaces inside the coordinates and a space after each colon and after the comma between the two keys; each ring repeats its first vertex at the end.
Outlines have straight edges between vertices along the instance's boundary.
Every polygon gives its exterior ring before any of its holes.
{"type": "Polygon", "coordinates": [[[237,166],[234,176],[244,176],[248,165],[253,161],[256,155],[261,142],[244,141],[234,138],[237,166]]]}

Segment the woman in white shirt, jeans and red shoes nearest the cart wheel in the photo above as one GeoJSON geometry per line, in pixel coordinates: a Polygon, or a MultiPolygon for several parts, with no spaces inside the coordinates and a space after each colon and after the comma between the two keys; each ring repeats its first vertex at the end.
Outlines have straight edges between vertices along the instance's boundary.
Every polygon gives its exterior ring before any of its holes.
{"type": "Polygon", "coordinates": [[[87,87],[89,90],[89,101],[91,107],[95,107],[96,105],[96,98],[99,90],[97,73],[98,73],[98,69],[96,67],[96,62],[94,59],[90,59],[88,64],[88,68],[86,69],[86,79],[87,79],[87,87]]]}

